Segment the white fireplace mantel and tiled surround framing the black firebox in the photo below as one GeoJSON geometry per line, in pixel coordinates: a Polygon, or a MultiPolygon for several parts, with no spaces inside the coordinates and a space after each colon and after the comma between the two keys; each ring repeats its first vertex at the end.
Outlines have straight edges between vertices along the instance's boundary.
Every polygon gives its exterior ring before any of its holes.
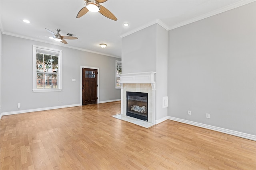
{"type": "Polygon", "coordinates": [[[126,92],[148,93],[148,123],[156,124],[156,72],[138,72],[120,75],[121,114],[126,115],[126,92]]]}

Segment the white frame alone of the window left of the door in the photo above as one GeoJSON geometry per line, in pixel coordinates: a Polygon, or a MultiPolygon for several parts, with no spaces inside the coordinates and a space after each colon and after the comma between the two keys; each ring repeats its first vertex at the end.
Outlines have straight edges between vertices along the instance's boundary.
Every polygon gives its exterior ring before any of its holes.
{"type": "Polygon", "coordinates": [[[62,90],[62,50],[33,45],[33,92],[60,92],[61,90],[62,90]],[[60,54],[60,56],[58,57],[58,74],[57,74],[58,88],[52,88],[52,89],[37,89],[36,88],[36,83],[37,83],[36,49],[43,49],[45,51],[54,51],[54,52],[58,52],[60,54]]]}

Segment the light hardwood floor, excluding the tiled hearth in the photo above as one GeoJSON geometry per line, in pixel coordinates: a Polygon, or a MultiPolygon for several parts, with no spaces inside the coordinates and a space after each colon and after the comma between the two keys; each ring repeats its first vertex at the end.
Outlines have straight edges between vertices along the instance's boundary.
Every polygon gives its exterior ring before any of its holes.
{"type": "Polygon", "coordinates": [[[120,102],[3,116],[1,170],[255,170],[256,142],[175,121],[146,129],[120,102]]]}

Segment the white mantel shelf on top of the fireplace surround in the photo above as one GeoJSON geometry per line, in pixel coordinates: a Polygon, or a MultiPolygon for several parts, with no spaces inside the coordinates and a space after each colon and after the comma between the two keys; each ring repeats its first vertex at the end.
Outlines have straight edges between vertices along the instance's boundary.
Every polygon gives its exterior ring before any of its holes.
{"type": "Polygon", "coordinates": [[[156,72],[136,72],[128,74],[120,74],[120,84],[156,84],[154,81],[156,72]]]}

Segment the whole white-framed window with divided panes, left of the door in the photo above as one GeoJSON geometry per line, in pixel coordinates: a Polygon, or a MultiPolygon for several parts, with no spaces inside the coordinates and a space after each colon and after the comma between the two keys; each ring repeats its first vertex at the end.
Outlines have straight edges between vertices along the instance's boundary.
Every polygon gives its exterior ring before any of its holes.
{"type": "Polygon", "coordinates": [[[33,45],[33,91],[61,91],[62,50],[33,45]]]}

